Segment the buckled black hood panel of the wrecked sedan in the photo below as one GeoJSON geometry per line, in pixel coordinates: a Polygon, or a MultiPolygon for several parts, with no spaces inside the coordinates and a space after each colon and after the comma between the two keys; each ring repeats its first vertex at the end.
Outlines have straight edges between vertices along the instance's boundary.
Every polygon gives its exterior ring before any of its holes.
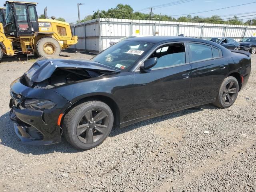
{"type": "Polygon", "coordinates": [[[65,69],[88,69],[107,72],[120,72],[120,70],[89,60],[70,60],[70,59],[46,59],[36,61],[31,68],[25,72],[27,78],[32,82],[42,82],[58,68],[65,69]]]}

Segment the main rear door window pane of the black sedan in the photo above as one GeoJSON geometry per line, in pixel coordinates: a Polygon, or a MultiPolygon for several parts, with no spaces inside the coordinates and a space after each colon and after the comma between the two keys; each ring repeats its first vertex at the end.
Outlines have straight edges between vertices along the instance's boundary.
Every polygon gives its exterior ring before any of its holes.
{"type": "Polygon", "coordinates": [[[213,58],[211,46],[189,43],[189,47],[192,53],[191,62],[213,58]]]}

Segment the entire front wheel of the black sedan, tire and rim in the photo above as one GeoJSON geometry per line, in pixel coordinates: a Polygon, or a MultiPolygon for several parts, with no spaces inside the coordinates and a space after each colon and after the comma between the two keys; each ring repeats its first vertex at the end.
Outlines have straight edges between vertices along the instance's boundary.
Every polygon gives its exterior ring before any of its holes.
{"type": "Polygon", "coordinates": [[[66,140],[72,146],[86,150],[102,144],[110,134],[113,123],[114,115],[110,107],[104,102],[93,100],[72,108],[64,116],[62,128],[66,140]]]}

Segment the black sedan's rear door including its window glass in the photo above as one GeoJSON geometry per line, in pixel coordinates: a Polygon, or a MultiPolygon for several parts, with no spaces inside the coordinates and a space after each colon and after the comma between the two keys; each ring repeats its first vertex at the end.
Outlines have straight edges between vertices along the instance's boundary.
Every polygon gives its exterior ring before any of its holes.
{"type": "Polygon", "coordinates": [[[209,44],[189,42],[192,79],[188,104],[216,98],[220,84],[228,73],[228,62],[219,48],[209,44]]]}

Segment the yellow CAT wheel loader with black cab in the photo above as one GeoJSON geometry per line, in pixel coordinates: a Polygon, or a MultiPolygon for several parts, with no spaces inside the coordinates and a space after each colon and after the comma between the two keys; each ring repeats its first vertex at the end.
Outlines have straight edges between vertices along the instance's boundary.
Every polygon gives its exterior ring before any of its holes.
{"type": "Polygon", "coordinates": [[[59,56],[62,49],[77,43],[70,25],[54,19],[38,19],[33,2],[6,1],[4,24],[0,22],[0,59],[6,55],[59,56]]]}

